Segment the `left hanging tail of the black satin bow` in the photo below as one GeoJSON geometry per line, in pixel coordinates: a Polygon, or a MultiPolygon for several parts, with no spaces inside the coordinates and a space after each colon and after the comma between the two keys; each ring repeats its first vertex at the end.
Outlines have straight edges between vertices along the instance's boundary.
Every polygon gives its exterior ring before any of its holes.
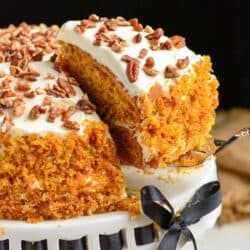
{"type": "Polygon", "coordinates": [[[180,235],[180,229],[170,228],[164,235],[158,250],[176,250],[180,235]]]}

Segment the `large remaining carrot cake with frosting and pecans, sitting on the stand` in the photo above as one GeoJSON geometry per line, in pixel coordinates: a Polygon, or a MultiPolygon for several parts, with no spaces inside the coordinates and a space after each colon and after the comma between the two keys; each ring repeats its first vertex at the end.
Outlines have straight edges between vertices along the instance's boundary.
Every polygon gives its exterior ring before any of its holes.
{"type": "Polygon", "coordinates": [[[89,215],[126,198],[115,145],[95,105],[74,78],[41,61],[54,51],[45,48],[55,43],[55,30],[0,30],[0,220],[89,215]]]}

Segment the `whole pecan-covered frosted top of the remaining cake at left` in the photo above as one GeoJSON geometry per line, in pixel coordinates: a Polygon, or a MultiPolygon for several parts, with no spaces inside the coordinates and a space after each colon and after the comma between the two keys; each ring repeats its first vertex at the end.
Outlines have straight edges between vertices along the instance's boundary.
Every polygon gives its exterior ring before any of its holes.
{"type": "Polygon", "coordinates": [[[58,29],[26,23],[0,29],[0,133],[81,134],[84,121],[99,121],[78,82],[54,69],[58,29]]]}

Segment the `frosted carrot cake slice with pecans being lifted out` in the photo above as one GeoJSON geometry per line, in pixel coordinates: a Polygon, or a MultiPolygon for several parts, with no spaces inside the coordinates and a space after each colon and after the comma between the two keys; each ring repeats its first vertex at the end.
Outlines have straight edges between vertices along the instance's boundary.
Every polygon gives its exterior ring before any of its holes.
{"type": "Polygon", "coordinates": [[[69,71],[110,126],[125,164],[166,166],[210,138],[218,82],[208,56],[136,18],[69,21],[57,68],[69,71]]]}

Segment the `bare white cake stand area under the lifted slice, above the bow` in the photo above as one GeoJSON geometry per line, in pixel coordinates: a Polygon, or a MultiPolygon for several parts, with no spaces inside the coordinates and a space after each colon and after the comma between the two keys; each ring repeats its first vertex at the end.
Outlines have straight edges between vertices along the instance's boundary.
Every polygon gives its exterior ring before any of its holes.
{"type": "Polygon", "coordinates": [[[206,161],[197,169],[176,167],[147,169],[147,173],[133,166],[122,166],[127,187],[132,192],[139,192],[143,186],[153,185],[171,202],[175,210],[182,208],[194,192],[207,182],[217,179],[215,159],[206,161]]]}

